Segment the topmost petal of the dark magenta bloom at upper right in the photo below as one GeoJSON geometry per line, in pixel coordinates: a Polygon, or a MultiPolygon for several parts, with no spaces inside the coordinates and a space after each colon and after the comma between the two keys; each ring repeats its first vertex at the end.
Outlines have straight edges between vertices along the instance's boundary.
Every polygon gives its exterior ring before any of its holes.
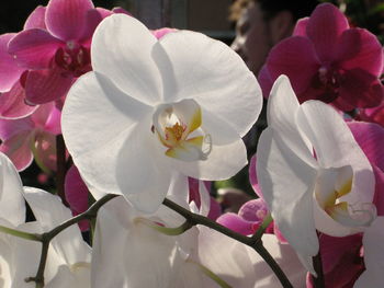
{"type": "Polygon", "coordinates": [[[306,34],[314,43],[321,62],[335,59],[339,37],[347,28],[349,28],[347,18],[332,4],[319,4],[312,13],[306,34]]]}

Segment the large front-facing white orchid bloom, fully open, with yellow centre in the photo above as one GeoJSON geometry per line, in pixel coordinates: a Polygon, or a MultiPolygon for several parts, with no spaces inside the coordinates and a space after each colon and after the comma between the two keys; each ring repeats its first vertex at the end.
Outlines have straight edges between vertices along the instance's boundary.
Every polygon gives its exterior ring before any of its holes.
{"type": "Polygon", "coordinates": [[[121,194],[153,212],[173,171],[223,180],[246,165],[241,137],[262,96],[228,46],[189,31],[158,41],[116,14],[98,26],[91,50],[93,71],[70,89],[63,133],[97,199],[121,194]]]}

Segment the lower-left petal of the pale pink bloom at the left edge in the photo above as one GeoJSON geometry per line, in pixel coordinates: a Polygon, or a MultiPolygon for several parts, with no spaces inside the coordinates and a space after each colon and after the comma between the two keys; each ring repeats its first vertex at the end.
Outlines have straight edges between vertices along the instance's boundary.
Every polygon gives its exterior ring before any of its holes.
{"type": "Polygon", "coordinates": [[[3,141],[0,145],[0,152],[3,152],[11,159],[18,171],[23,171],[31,165],[33,161],[30,145],[31,133],[23,131],[3,141]]]}

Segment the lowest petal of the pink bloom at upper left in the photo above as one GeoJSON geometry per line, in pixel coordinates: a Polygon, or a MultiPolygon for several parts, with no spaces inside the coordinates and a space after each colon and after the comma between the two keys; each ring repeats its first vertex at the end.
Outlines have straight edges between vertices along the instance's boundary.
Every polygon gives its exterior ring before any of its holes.
{"type": "Polygon", "coordinates": [[[58,67],[30,71],[25,81],[26,101],[44,104],[60,99],[67,94],[75,80],[71,74],[64,74],[58,67]]]}

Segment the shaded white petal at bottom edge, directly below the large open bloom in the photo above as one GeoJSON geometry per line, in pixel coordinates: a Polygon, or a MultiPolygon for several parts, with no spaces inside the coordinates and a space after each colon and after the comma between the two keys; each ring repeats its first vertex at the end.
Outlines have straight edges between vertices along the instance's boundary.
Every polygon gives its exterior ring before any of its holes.
{"type": "Polygon", "coordinates": [[[133,220],[121,197],[99,211],[93,242],[92,287],[170,287],[174,238],[133,220]]]}

